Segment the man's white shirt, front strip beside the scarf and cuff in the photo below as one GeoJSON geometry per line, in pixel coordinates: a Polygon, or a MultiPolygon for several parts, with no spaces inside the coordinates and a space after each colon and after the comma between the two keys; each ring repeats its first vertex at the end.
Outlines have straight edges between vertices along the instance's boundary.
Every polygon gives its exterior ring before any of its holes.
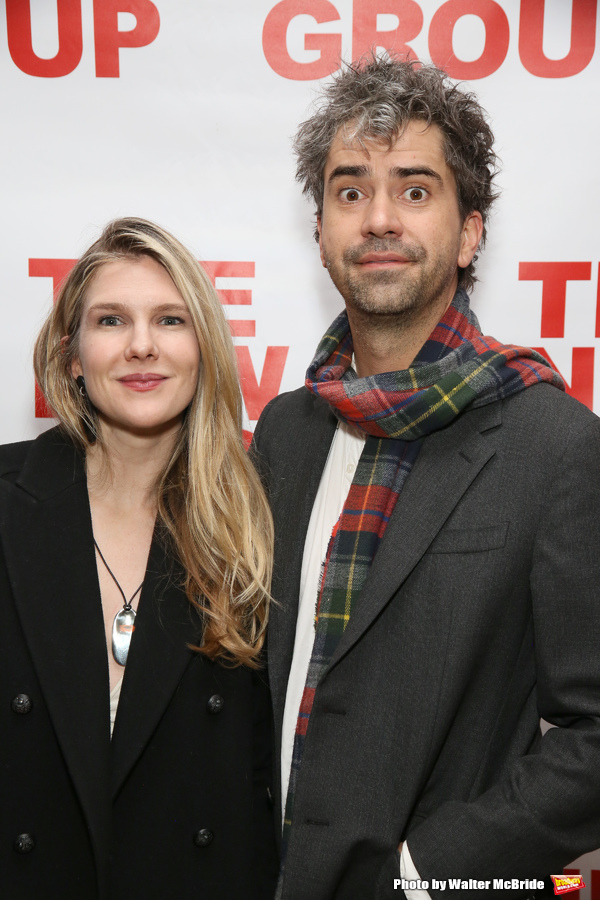
{"type": "MultiPolygon", "coordinates": [[[[308,664],[315,639],[315,607],[321,568],[327,556],[331,532],[342,513],[350,485],[354,479],[365,440],[366,434],[363,431],[353,428],[346,422],[338,423],[306,532],[300,576],[296,639],[283,712],[281,736],[282,818],[285,815],[298,710],[306,685],[308,664]]],[[[419,873],[414,866],[406,843],[402,847],[399,875],[409,881],[419,880],[419,873]]],[[[405,894],[408,900],[430,900],[427,891],[405,890],[405,894]]]]}

